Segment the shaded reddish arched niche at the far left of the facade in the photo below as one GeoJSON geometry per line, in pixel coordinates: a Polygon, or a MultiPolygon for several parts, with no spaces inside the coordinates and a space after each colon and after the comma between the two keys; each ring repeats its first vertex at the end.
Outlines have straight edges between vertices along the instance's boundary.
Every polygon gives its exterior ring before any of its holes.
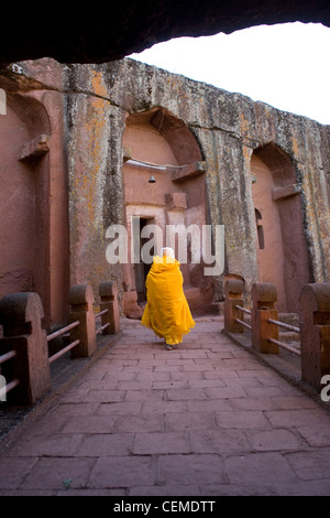
{"type": "Polygon", "coordinates": [[[48,138],[36,99],[9,91],[0,117],[0,296],[35,291],[48,307],[48,138]]]}

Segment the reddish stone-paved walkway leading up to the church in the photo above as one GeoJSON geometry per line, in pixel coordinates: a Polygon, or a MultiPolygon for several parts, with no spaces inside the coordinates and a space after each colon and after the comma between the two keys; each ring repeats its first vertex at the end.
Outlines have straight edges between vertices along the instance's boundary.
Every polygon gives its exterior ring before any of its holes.
{"type": "Polygon", "coordinates": [[[140,321],[0,456],[0,495],[329,495],[330,416],[196,320],[174,350],[140,321]]]}

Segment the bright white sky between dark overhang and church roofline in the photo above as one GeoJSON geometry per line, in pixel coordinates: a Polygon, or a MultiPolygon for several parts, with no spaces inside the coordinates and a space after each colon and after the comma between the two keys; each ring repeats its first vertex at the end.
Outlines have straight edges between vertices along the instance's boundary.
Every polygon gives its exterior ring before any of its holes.
{"type": "Polygon", "coordinates": [[[320,23],[177,37],[128,57],[330,125],[330,29],[320,23]]]}

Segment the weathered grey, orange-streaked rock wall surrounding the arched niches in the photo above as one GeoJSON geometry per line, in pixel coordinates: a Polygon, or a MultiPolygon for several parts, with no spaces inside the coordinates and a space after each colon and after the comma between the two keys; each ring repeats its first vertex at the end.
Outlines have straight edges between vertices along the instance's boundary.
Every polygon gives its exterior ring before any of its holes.
{"type": "MultiPolygon", "coordinates": [[[[68,213],[72,283],[96,287],[112,279],[121,295],[123,267],[107,261],[106,233],[110,225],[125,225],[122,137],[128,116],[155,108],[183,121],[199,147],[207,222],[226,229],[222,277],[243,276],[248,291],[258,278],[254,154],[276,180],[275,198],[295,193],[309,282],[329,280],[328,126],[128,58],[102,65],[59,65],[48,58],[19,65],[21,74],[7,73],[11,84],[25,96],[37,93],[40,101],[44,96],[52,139],[58,143],[64,134],[62,147],[51,148],[50,174],[67,182],[68,202],[63,193],[56,206],[68,213]],[[61,102],[52,102],[58,97],[61,102]],[[271,148],[276,152],[264,151],[271,148]]],[[[290,218],[289,209],[282,214],[290,218]]],[[[52,256],[52,244],[50,249],[52,256]]],[[[67,257],[65,244],[63,253],[67,257]]]]}

